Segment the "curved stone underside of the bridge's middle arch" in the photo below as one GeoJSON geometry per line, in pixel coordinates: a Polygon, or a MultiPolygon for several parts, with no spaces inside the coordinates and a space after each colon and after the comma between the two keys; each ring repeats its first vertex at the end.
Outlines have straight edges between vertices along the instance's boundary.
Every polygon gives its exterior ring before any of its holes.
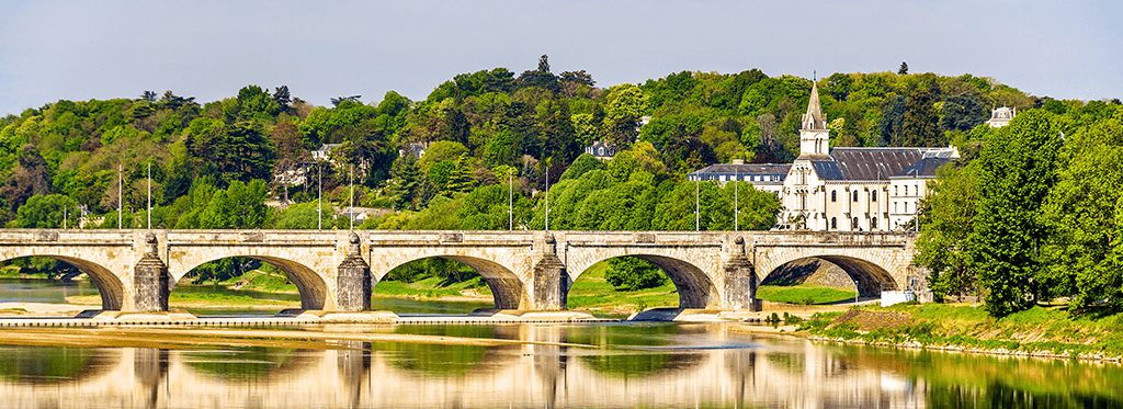
{"type": "Polygon", "coordinates": [[[371,274],[377,281],[382,281],[382,279],[390,274],[391,270],[394,270],[400,265],[430,257],[451,260],[475,270],[484,282],[487,283],[487,288],[491,289],[496,309],[520,309],[530,302],[529,299],[527,299],[527,292],[522,280],[519,279],[518,274],[495,261],[480,256],[433,253],[416,255],[412,257],[401,257],[392,261],[381,258],[374,260],[378,265],[381,265],[381,267],[378,267],[378,270],[372,269],[371,274]]]}

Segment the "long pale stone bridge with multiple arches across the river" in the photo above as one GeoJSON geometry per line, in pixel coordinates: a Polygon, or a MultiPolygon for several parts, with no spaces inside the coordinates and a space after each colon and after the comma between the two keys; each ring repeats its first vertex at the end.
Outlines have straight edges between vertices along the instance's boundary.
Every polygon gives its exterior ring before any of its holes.
{"type": "Polygon", "coordinates": [[[679,308],[756,310],[757,285],[806,257],[880,288],[903,288],[922,276],[912,267],[914,239],[901,233],[0,229],[0,261],[61,260],[90,276],[102,309],[164,311],[192,269],[248,257],[287,273],[303,309],[363,311],[391,270],[444,257],[475,269],[499,309],[564,310],[585,270],[634,256],[666,272],[679,308]]]}

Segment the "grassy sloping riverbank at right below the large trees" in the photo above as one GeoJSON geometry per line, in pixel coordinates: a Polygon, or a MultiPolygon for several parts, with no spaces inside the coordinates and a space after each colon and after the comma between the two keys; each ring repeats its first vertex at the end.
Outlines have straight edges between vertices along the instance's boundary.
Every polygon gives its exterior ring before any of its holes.
{"type": "Polygon", "coordinates": [[[1004,318],[971,306],[861,307],[815,313],[795,334],[879,346],[1123,362],[1123,313],[1070,315],[1059,307],[1034,307],[1004,318]]]}

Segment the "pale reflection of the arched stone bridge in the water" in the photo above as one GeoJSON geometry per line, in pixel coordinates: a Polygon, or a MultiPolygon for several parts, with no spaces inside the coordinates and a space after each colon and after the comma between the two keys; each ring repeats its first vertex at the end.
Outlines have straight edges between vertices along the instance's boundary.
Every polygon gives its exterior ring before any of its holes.
{"type": "Polygon", "coordinates": [[[743,407],[923,406],[902,367],[852,349],[721,326],[399,327],[540,343],[369,344],[339,349],[0,347],[12,407],[743,407]],[[849,352],[848,352],[849,351],[849,352]]]}

